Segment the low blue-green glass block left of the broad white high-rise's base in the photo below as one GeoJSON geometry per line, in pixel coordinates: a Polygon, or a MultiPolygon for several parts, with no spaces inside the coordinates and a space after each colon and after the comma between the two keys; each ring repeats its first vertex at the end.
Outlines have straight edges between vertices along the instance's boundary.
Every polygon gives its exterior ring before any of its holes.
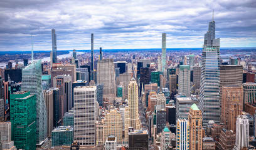
{"type": "Polygon", "coordinates": [[[73,128],[59,126],[51,132],[51,146],[71,146],[73,143],[73,128]]]}

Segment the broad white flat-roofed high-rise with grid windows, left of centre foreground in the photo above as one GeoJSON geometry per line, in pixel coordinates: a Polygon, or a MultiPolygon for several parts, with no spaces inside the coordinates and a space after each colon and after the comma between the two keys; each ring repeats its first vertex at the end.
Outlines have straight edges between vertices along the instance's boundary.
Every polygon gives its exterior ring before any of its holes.
{"type": "Polygon", "coordinates": [[[80,145],[95,145],[96,86],[74,88],[74,141],[80,145]]]}

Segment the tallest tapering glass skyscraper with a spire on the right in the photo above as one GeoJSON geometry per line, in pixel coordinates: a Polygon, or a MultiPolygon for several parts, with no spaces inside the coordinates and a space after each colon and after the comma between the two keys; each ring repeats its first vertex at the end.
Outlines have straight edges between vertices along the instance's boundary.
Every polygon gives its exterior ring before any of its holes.
{"type": "Polygon", "coordinates": [[[209,22],[201,58],[200,109],[203,127],[220,123],[220,39],[215,39],[215,21],[209,22]]]}

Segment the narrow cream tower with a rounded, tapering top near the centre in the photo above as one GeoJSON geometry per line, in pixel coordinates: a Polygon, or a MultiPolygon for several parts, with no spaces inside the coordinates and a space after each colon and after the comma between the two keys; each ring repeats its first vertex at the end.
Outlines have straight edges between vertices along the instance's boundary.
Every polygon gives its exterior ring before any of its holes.
{"type": "Polygon", "coordinates": [[[139,128],[139,91],[138,85],[134,78],[131,79],[128,86],[128,106],[131,116],[131,127],[134,129],[139,128]]]}

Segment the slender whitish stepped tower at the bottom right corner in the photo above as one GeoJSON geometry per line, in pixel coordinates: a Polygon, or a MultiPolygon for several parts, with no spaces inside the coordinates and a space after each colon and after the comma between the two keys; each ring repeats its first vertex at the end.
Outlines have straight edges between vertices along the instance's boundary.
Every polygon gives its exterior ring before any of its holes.
{"type": "Polygon", "coordinates": [[[237,118],[234,149],[247,148],[249,145],[249,119],[245,115],[237,118]]]}

